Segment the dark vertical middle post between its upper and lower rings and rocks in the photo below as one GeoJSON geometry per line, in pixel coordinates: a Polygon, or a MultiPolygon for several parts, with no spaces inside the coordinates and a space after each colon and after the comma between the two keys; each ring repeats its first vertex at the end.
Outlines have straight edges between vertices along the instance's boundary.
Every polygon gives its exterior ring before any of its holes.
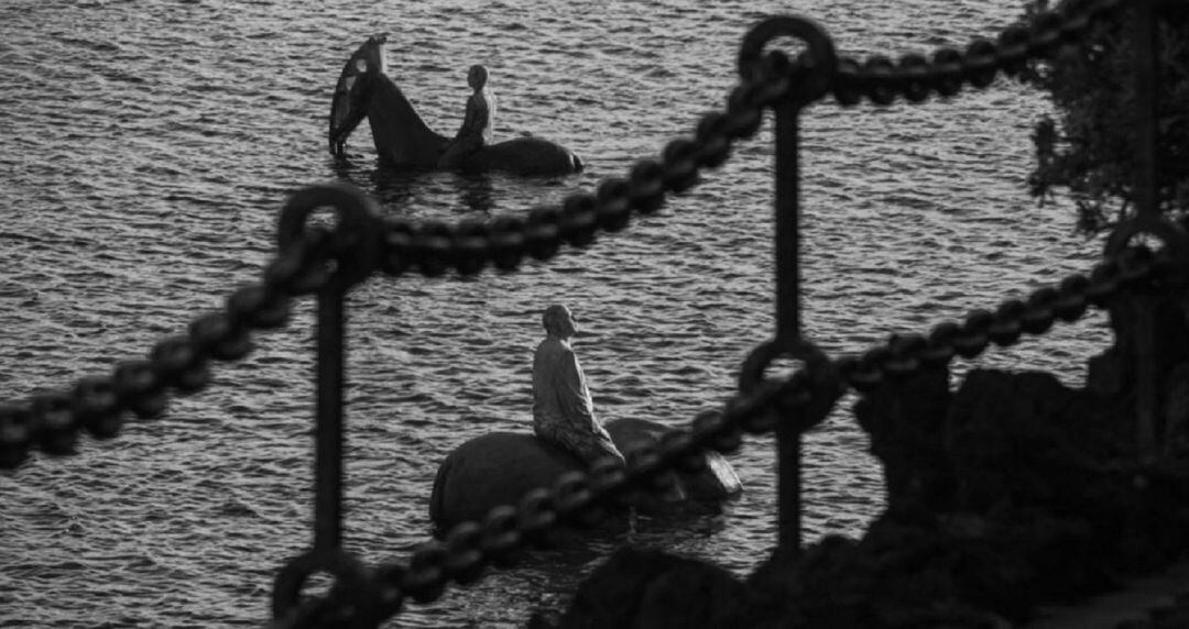
{"type": "MultiPolygon", "coordinates": [[[[776,136],[776,345],[791,350],[801,337],[800,313],[800,106],[791,97],[775,107],[776,136]]],[[[787,421],[776,424],[778,542],[801,545],[801,434],[787,421]]]]}

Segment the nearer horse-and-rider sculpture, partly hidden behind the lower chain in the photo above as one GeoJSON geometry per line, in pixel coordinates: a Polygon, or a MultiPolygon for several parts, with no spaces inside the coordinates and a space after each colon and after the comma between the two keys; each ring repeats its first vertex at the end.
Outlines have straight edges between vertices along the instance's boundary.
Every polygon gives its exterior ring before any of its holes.
{"type": "MultiPolygon", "coordinates": [[[[533,432],[495,431],[453,449],[434,476],[429,519],[445,532],[460,522],[486,517],[491,509],[516,504],[529,491],[552,487],[561,475],[590,469],[606,457],[623,462],[622,451],[656,447],[669,428],[640,417],[616,418],[604,426],[594,417],[586,377],[570,344],[577,323],[570,310],[549,306],[543,320],[546,338],[533,360],[533,432]]],[[[612,530],[642,517],[719,513],[742,484],[718,452],[705,452],[696,471],[666,475],[660,493],[630,496],[629,510],[608,514],[612,530]]]]}

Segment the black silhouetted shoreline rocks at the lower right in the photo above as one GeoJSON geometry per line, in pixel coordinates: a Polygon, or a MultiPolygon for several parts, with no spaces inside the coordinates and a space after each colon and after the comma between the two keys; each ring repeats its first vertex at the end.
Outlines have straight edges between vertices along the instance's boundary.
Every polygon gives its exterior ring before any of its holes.
{"type": "Polygon", "coordinates": [[[746,580],[624,548],[565,614],[530,627],[998,629],[1168,568],[1189,557],[1185,307],[1132,294],[1111,304],[1111,323],[1115,345],[1092,358],[1082,389],[974,369],[951,393],[949,371],[932,368],[866,394],[855,414],[888,506],[862,539],[778,548],[746,580]],[[1144,333],[1159,339],[1146,355],[1144,333]],[[1155,456],[1128,363],[1141,355],[1159,375],[1155,456]]]}

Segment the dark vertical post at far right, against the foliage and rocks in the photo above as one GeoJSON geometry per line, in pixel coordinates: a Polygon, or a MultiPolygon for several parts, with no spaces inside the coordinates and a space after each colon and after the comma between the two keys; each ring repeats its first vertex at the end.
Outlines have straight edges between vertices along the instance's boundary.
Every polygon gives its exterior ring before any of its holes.
{"type": "MultiPolygon", "coordinates": [[[[1135,46],[1135,210],[1141,224],[1159,220],[1156,178],[1156,14],[1152,0],[1134,4],[1133,38],[1135,46]]],[[[1171,243],[1169,243],[1171,246],[1171,243]]],[[[1159,444],[1159,374],[1156,369],[1155,307],[1149,296],[1135,296],[1135,414],[1137,446],[1140,460],[1158,457],[1159,444]]]]}

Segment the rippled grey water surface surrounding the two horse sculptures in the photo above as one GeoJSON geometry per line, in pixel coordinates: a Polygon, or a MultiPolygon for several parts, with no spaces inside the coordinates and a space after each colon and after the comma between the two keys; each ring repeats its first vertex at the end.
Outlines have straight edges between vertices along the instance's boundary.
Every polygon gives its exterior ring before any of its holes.
{"type": "MultiPolygon", "coordinates": [[[[621,176],[690,133],[734,87],[737,43],[769,13],[825,24],[848,53],[993,34],[1017,2],[694,0],[279,2],[6,0],[0,5],[0,395],[62,387],[143,355],[254,281],[288,193],[345,178],[392,216],[521,214],[621,176]],[[556,180],[378,171],[363,126],[326,153],[342,62],[390,32],[390,74],[452,133],[484,63],[496,134],[578,151],[556,180]]],[[[830,352],[989,307],[1097,246],[1025,193],[1044,101],[996,83],[949,103],[811,108],[804,120],[805,322],[830,352]]],[[[463,439],[528,430],[539,313],[581,318],[575,347],[604,419],[679,424],[732,390],[773,331],[766,128],[703,185],[627,231],[521,273],[375,278],[350,299],[347,544],[370,564],[429,534],[438,462],[463,439]]],[[[271,579],[310,541],[312,305],[262,335],[164,419],[0,476],[0,627],[259,627],[271,579]]],[[[982,361],[1080,383],[1101,318],[982,361]]],[[[853,400],[806,447],[810,538],[860,534],[882,503],[853,400]]],[[[774,544],[773,456],[732,458],[746,495],[691,530],[636,541],[749,572],[774,544]]],[[[606,542],[596,551],[605,552],[606,542]]],[[[558,606],[599,553],[543,555],[392,625],[515,627],[558,606]]]]}

